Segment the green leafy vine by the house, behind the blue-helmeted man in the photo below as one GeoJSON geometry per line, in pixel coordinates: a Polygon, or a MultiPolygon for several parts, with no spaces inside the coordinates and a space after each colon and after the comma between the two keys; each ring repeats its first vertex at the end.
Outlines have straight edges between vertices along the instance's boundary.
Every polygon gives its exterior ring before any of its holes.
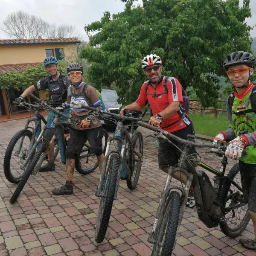
{"type": "MultiPolygon", "coordinates": [[[[66,68],[67,66],[59,61],[58,71],[66,73],[66,68]]],[[[0,87],[3,89],[13,87],[16,90],[26,89],[45,76],[48,76],[45,67],[42,63],[38,63],[38,66],[28,66],[23,72],[10,71],[0,74],[0,87]]]]}

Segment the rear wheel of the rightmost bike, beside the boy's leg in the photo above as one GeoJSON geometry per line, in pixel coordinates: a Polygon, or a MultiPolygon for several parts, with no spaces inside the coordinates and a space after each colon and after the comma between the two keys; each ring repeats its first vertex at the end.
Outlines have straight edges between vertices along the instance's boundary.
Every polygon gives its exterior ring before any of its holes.
{"type": "MultiPolygon", "coordinates": [[[[239,174],[239,163],[236,163],[230,170],[227,177],[229,177],[231,180],[233,180],[236,177],[236,175],[238,175],[238,174],[239,174]]],[[[240,184],[240,186],[241,186],[241,184],[240,184]]],[[[228,181],[224,181],[224,184],[221,189],[220,201],[224,206],[227,206],[226,204],[234,206],[234,205],[239,204],[242,201],[244,201],[244,197],[243,197],[243,195],[241,195],[241,192],[239,192],[239,190],[235,186],[233,186],[228,181]],[[229,192],[231,191],[230,186],[232,186],[232,193],[229,194],[229,192]],[[237,190],[237,192],[235,192],[235,190],[237,190]]],[[[246,228],[247,224],[250,221],[250,214],[248,212],[248,209],[246,210],[245,214],[240,215],[241,211],[239,212],[239,209],[246,209],[247,205],[245,205],[244,207],[245,208],[243,208],[243,207],[236,208],[233,211],[226,213],[225,218],[227,221],[224,223],[222,223],[222,222],[220,223],[220,228],[226,236],[235,238],[235,237],[241,235],[241,233],[246,228]],[[230,217],[230,214],[232,214],[232,217],[230,217]],[[238,215],[236,215],[236,214],[238,214],[238,215]],[[233,215],[235,215],[235,217],[233,217],[233,215]],[[240,219],[241,219],[240,224],[238,224],[236,227],[231,227],[232,225],[236,224],[237,221],[239,221],[240,219]]]]}

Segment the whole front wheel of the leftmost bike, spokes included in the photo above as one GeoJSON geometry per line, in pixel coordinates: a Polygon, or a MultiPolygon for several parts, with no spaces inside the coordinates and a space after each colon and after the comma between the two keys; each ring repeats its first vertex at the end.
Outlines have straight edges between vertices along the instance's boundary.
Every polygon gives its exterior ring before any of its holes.
{"type": "Polygon", "coordinates": [[[24,175],[20,166],[29,154],[32,132],[29,130],[18,131],[10,140],[3,159],[3,172],[6,179],[18,183],[24,175]]]}

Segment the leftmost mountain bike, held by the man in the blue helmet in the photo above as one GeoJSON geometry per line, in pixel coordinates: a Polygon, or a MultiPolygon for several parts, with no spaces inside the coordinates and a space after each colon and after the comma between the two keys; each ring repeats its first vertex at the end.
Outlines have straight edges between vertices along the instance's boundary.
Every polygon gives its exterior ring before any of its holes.
{"type": "MultiPolygon", "coordinates": [[[[31,94],[33,97],[34,95],[31,94]]],[[[37,97],[34,98],[36,101],[40,101],[37,97]]],[[[16,102],[17,103],[17,102],[16,102]]],[[[32,119],[28,119],[25,128],[18,131],[10,140],[6,153],[3,160],[3,170],[6,179],[12,183],[19,183],[21,177],[24,174],[24,170],[30,161],[32,160],[36,149],[41,145],[41,140],[38,140],[41,134],[41,120],[46,125],[47,121],[39,113],[38,109],[42,109],[44,106],[33,105],[26,102],[21,102],[20,105],[28,108],[30,111],[34,112],[35,115],[32,119]],[[34,125],[33,125],[34,123],[34,125]],[[36,146],[35,142],[38,141],[36,146]]],[[[65,131],[66,132],[66,131],[65,131]]],[[[69,131],[68,131],[69,132],[69,131]]],[[[104,137],[103,144],[104,149],[106,147],[108,133],[103,129],[104,137]]],[[[67,141],[66,141],[67,144],[67,141]]],[[[54,159],[57,157],[59,152],[58,142],[55,141],[54,148],[54,159]]],[[[46,157],[47,158],[47,157],[46,157]]],[[[40,166],[39,166],[40,167],[40,166]]],[[[79,161],[76,162],[76,170],[81,174],[88,174],[93,172],[98,167],[98,160],[95,154],[90,151],[90,143],[86,142],[82,148],[81,154],[79,156],[79,161]],[[86,166],[86,168],[85,168],[86,166]]]]}

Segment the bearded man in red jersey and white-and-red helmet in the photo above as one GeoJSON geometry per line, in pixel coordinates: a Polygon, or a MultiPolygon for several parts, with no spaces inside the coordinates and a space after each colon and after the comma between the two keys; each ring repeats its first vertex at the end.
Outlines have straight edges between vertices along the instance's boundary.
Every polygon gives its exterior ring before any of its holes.
{"type": "MultiPolygon", "coordinates": [[[[186,139],[188,134],[195,134],[192,121],[182,106],[182,86],[176,78],[168,77],[167,79],[162,75],[163,63],[161,58],[155,54],[147,55],[142,60],[142,68],[148,81],[142,85],[136,102],[122,108],[120,114],[123,113],[124,109],[127,109],[128,112],[142,111],[148,102],[153,114],[148,122],[150,125],[168,131],[182,139],[186,139]],[[164,88],[164,79],[167,79],[167,90],[164,88]]],[[[173,143],[181,149],[184,148],[175,140],[173,143]]],[[[195,149],[192,149],[191,154],[193,153],[195,153],[195,149]]],[[[158,164],[160,169],[167,173],[170,166],[177,164],[179,157],[180,151],[174,145],[165,140],[159,140],[158,164]]],[[[182,173],[175,173],[173,177],[186,182],[186,176],[182,173]]]]}

